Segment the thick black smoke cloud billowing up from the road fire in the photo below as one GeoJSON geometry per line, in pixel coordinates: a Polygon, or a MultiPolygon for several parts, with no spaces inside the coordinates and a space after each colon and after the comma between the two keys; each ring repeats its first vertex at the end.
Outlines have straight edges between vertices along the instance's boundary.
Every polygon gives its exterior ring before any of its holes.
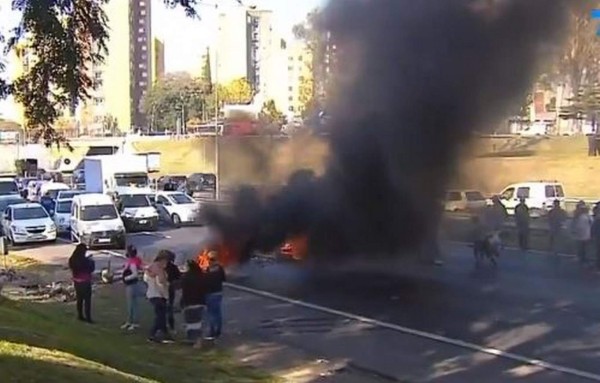
{"type": "Polygon", "coordinates": [[[333,0],[340,52],[331,158],[261,202],[251,189],[226,236],[269,249],[309,233],[317,256],[397,254],[436,226],[437,201],[471,132],[493,126],[530,89],[578,0],[333,0]]]}

